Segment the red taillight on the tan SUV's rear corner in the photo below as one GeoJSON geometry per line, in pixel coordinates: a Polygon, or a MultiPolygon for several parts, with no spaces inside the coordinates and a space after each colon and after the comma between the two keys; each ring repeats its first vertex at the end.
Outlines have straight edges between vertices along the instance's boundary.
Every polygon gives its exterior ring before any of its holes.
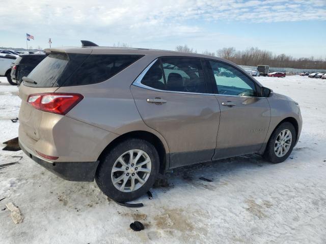
{"type": "Polygon", "coordinates": [[[38,110],[65,115],[83,98],[75,93],[41,93],[30,95],[27,101],[38,110]]]}

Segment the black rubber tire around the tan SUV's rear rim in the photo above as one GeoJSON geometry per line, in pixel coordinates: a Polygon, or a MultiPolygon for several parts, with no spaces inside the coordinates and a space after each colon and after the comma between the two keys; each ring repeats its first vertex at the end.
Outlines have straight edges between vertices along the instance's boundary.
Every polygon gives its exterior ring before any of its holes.
{"type": "Polygon", "coordinates": [[[100,161],[95,175],[96,184],[106,196],[117,202],[132,201],[146,194],[153,186],[159,169],[159,157],[153,144],[137,138],[120,142],[114,148],[107,151],[100,161]],[[116,160],[131,149],[141,149],[145,151],[151,160],[151,172],[149,178],[141,188],[133,192],[121,192],[113,185],[111,171],[116,160]]]}

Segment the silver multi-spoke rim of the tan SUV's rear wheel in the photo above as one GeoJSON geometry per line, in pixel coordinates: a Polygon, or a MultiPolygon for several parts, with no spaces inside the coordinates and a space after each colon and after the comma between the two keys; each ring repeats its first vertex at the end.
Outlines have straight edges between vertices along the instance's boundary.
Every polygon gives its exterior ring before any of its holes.
{"type": "Polygon", "coordinates": [[[145,151],[140,149],[126,151],[113,165],[112,183],[121,192],[136,191],[148,180],[151,167],[151,159],[145,151]]]}

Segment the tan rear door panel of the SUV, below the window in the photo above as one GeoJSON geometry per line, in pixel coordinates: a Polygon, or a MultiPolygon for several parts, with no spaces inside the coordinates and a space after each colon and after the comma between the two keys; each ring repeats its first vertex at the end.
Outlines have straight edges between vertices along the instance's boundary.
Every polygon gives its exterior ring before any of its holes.
{"type": "Polygon", "coordinates": [[[166,139],[170,153],[174,155],[170,168],[211,159],[220,119],[220,107],[215,96],[164,92],[135,85],[130,88],[145,124],[166,139]],[[147,99],[155,98],[165,100],[165,103],[147,102],[147,99]],[[193,158],[194,161],[184,163],[186,153],[192,151],[200,153],[193,158]]]}

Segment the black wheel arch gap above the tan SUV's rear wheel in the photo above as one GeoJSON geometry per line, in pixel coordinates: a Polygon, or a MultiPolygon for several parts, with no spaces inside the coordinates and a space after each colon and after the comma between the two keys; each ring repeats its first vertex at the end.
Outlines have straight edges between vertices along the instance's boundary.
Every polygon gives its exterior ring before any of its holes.
{"type": "Polygon", "coordinates": [[[98,160],[101,161],[102,157],[106,155],[108,151],[110,151],[111,148],[113,148],[117,144],[131,138],[143,139],[154,145],[159,156],[159,173],[164,174],[170,164],[168,151],[165,147],[165,144],[161,141],[161,139],[155,134],[148,131],[131,131],[118,136],[103,149],[102,153],[98,157],[98,160]]]}

